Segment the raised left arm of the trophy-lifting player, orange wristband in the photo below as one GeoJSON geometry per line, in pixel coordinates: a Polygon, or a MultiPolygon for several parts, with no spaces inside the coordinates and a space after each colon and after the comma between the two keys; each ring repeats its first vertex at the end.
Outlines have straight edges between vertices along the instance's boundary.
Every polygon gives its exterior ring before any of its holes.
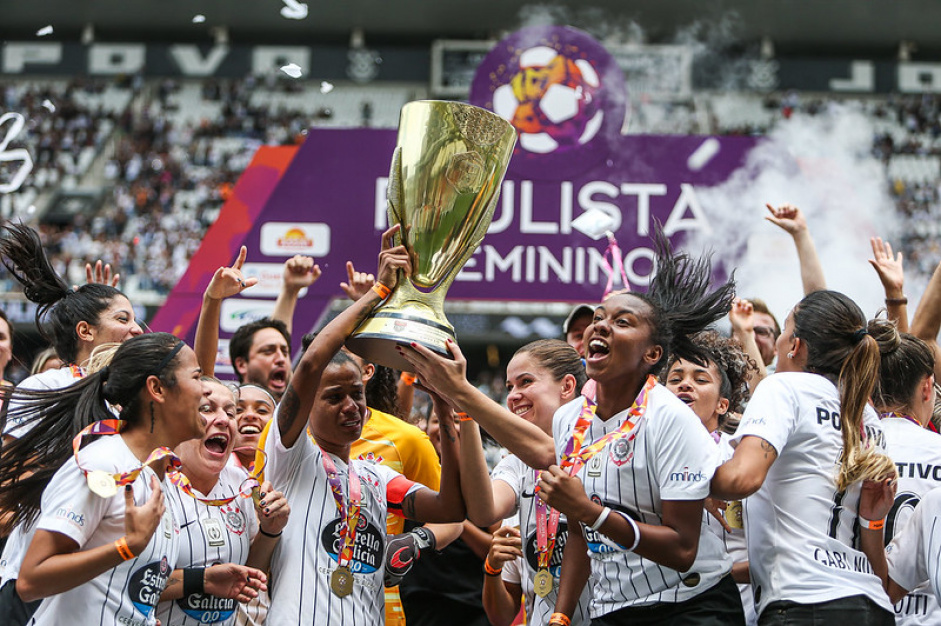
{"type": "MultiPolygon", "coordinates": [[[[398,282],[398,270],[408,270],[410,262],[405,246],[393,246],[392,240],[399,231],[396,224],[382,234],[382,251],[379,253],[379,282],[392,289],[398,282]]],[[[301,356],[291,383],[278,406],[278,430],[281,441],[288,448],[294,445],[304,431],[310,409],[314,404],[320,376],[333,355],[343,347],[343,342],[356,327],[366,319],[382,298],[370,289],[359,300],[336,316],[317,334],[313,343],[301,356]]]]}

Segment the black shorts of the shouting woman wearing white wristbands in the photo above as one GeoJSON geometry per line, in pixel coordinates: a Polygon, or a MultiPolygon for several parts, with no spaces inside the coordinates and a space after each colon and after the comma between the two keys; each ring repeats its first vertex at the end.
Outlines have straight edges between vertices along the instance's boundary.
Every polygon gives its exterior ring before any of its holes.
{"type": "Polygon", "coordinates": [[[629,606],[598,618],[592,626],[745,626],[742,596],[731,576],[684,602],[629,606]]]}

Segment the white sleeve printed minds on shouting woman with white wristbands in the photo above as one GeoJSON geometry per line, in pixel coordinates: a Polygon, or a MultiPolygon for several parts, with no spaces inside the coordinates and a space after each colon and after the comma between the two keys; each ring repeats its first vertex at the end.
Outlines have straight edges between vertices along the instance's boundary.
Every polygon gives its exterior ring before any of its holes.
{"type": "MultiPolygon", "coordinates": [[[[667,392],[669,393],[669,392],[667,392]]],[[[653,441],[660,498],[701,500],[709,495],[709,481],[716,471],[719,449],[702,422],[685,405],[664,407],[670,415],[648,422],[653,441]]],[[[645,426],[646,427],[646,426],[645,426]]]]}

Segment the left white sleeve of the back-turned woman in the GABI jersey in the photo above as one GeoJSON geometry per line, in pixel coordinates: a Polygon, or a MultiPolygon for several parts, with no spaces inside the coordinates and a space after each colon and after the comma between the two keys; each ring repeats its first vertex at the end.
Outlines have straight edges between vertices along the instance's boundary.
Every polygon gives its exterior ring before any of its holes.
{"type": "Polygon", "coordinates": [[[755,388],[732,441],[738,444],[744,437],[760,437],[774,446],[780,456],[794,431],[797,417],[798,402],[794,392],[781,376],[769,376],[755,388]]]}

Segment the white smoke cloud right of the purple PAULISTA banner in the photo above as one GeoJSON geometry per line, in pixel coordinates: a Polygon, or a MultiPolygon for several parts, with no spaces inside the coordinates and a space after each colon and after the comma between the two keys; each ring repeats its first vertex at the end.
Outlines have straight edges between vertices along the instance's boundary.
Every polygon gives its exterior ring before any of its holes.
{"type": "Polygon", "coordinates": [[[874,315],[885,296],[867,263],[869,238],[896,242],[899,220],[885,168],[871,154],[873,135],[869,118],[851,105],[781,120],[744,167],[700,192],[712,233],[691,238],[687,247],[714,250],[717,261],[736,268],[738,293],[764,299],[783,321],[803,296],[800,267],[790,235],[764,219],[765,204],[796,205],[807,218],[827,287],[874,315]]]}

